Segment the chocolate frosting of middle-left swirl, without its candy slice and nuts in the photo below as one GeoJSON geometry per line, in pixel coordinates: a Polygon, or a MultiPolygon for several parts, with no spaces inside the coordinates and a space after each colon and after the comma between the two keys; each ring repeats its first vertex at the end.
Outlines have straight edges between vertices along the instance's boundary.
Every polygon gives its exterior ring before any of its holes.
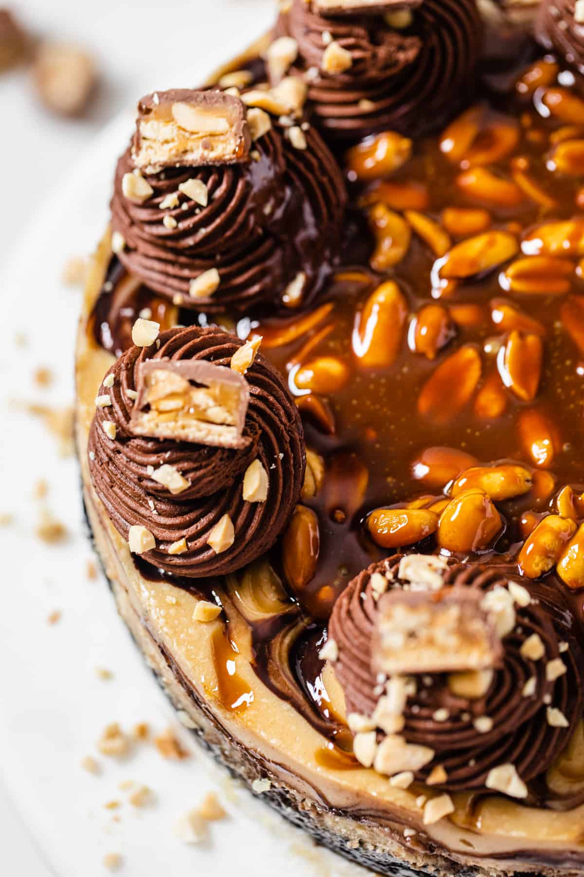
{"type": "Polygon", "coordinates": [[[159,340],[159,349],[130,347],[104,379],[100,392],[109,395],[111,404],[95,410],[88,444],[95,491],[123,538],[133,525],[152,533],[156,547],[143,554],[152,565],[193,578],[234,572],[271,548],[298,501],[306,466],[298,410],[276,369],[258,353],[245,374],[250,403],[243,433],[249,441],[243,450],[134,435],[130,416],[141,363],[208,360],[229,367],[243,346],[218,328],[172,329],[159,340]],[[116,424],[115,439],[103,429],[107,421],[116,424]],[[268,474],[264,502],[243,500],[243,474],[253,460],[260,460],[268,474]],[[156,481],[152,475],[165,464],[190,481],[190,487],[173,495],[156,481]],[[209,533],[226,514],[235,540],[226,551],[215,553],[208,545],[209,533]],[[168,553],[182,538],[186,551],[168,553]]]}

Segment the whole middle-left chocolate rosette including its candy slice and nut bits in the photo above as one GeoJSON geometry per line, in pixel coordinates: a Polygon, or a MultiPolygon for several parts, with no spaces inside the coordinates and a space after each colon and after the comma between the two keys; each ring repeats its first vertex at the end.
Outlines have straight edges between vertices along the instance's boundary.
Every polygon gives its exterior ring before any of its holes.
{"type": "Polygon", "coordinates": [[[88,445],[95,491],[153,566],[234,572],[271,548],[298,501],[298,410],[257,341],[196,327],[150,340],[102,382],[88,445]]]}

